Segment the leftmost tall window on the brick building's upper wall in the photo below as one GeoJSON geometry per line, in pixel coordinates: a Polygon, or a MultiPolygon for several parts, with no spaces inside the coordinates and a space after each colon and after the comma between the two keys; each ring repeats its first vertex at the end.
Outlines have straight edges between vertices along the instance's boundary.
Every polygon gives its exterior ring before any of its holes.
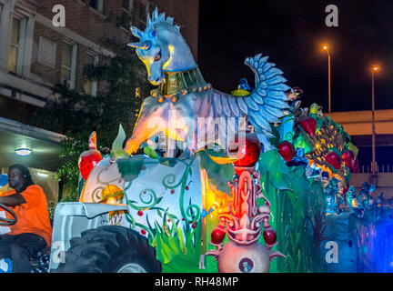
{"type": "Polygon", "coordinates": [[[8,49],[8,71],[22,74],[25,50],[26,18],[13,17],[8,49]]]}

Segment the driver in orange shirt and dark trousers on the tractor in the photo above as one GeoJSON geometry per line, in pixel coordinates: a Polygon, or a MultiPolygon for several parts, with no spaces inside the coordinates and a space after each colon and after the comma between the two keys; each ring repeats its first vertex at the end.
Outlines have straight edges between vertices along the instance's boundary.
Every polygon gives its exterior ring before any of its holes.
{"type": "MultiPolygon", "coordinates": [[[[0,235],[0,260],[11,258],[13,272],[30,273],[30,256],[50,246],[52,240],[46,197],[43,189],[34,185],[26,166],[10,166],[8,180],[13,190],[0,196],[0,204],[12,209],[17,221],[9,226],[10,232],[0,235]]],[[[6,218],[12,216],[6,212],[6,218]]]]}

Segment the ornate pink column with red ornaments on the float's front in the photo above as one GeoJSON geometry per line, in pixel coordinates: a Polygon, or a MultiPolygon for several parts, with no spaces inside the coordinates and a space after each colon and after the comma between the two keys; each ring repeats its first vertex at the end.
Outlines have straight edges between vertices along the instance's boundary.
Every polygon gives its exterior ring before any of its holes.
{"type": "Polygon", "coordinates": [[[267,273],[274,257],[285,256],[271,251],[277,245],[277,234],[269,225],[270,202],[262,193],[255,168],[261,146],[252,129],[247,130],[246,142],[239,146],[238,152],[242,158],[234,163],[236,176],[229,182],[230,211],[219,215],[210,241],[217,249],[206,255],[215,256],[220,273],[267,273]],[[265,205],[257,207],[257,198],[264,199],[265,205]],[[261,234],[266,246],[258,242],[261,234]],[[223,246],[226,235],[230,241],[223,246]]]}

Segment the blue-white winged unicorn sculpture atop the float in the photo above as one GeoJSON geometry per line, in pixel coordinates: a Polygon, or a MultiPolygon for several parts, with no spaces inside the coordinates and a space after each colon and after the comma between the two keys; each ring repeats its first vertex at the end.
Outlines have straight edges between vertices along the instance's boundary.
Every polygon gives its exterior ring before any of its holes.
{"type": "Polygon", "coordinates": [[[192,151],[216,143],[228,152],[229,140],[245,132],[247,122],[265,149],[272,148],[267,140],[273,136],[271,124],[279,123],[288,108],[285,92],[290,87],[283,72],[267,62],[268,56],[259,54],[245,61],[255,74],[255,90],[245,96],[229,95],[205,81],[172,17],[156,9],[147,15],[145,31],[134,26],[131,31],[140,41],[128,45],[136,48],[149,82],[158,88],[143,102],[134,133],[126,142],[129,155],[159,132],[192,151]]]}

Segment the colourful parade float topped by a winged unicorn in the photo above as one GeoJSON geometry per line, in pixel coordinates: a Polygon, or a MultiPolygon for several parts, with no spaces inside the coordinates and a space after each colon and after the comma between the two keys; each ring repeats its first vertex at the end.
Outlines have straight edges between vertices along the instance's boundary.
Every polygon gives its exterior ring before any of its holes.
{"type": "Polygon", "coordinates": [[[162,272],[375,270],[372,186],[357,196],[349,185],[358,148],[342,125],[302,108],[267,56],[246,59],[255,89],[242,79],[227,94],[205,81],[173,18],[155,10],[132,33],[158,87],[110,155],[90,136],[79,202],[124,206],[109,225],[145,236],[162,272]]]}

